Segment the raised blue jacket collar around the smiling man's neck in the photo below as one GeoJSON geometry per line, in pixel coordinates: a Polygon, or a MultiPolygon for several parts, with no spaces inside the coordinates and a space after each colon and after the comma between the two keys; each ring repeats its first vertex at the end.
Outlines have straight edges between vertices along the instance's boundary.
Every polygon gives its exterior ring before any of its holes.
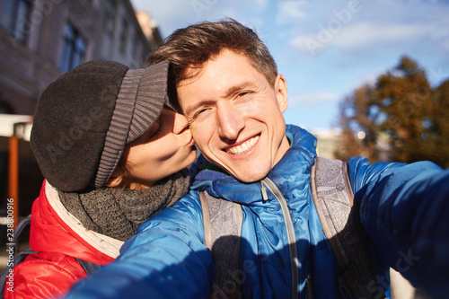
{"type": "MultiPolygon", "coordinates": [[[[269,171],[267,177],[275,183],[282,180],[283,184],[289,186],[289,181],[293,184],[298,182],[298,175],[301,171],[308,173],[312,168],[316,157],[316,138],[303,128],[293,125],[286,126],[286,137],[290,148],[269,171]],[[295,163],[295,166],[293,167],[291,163],[295,163]]],[[[242,204],[261,200],[261,197],[254,197],[254,192],[260,192],[260,180],[252,183],[236,180],[215,165],[207,163],[202,155],[198,158],[195,167],[203,170],[199,171],[195,177],[192,189],[207,189],[207,192],[216,198],[225,198],[242,204]],[[245,187],[242,188],[242,186],[245,187]]]]}

